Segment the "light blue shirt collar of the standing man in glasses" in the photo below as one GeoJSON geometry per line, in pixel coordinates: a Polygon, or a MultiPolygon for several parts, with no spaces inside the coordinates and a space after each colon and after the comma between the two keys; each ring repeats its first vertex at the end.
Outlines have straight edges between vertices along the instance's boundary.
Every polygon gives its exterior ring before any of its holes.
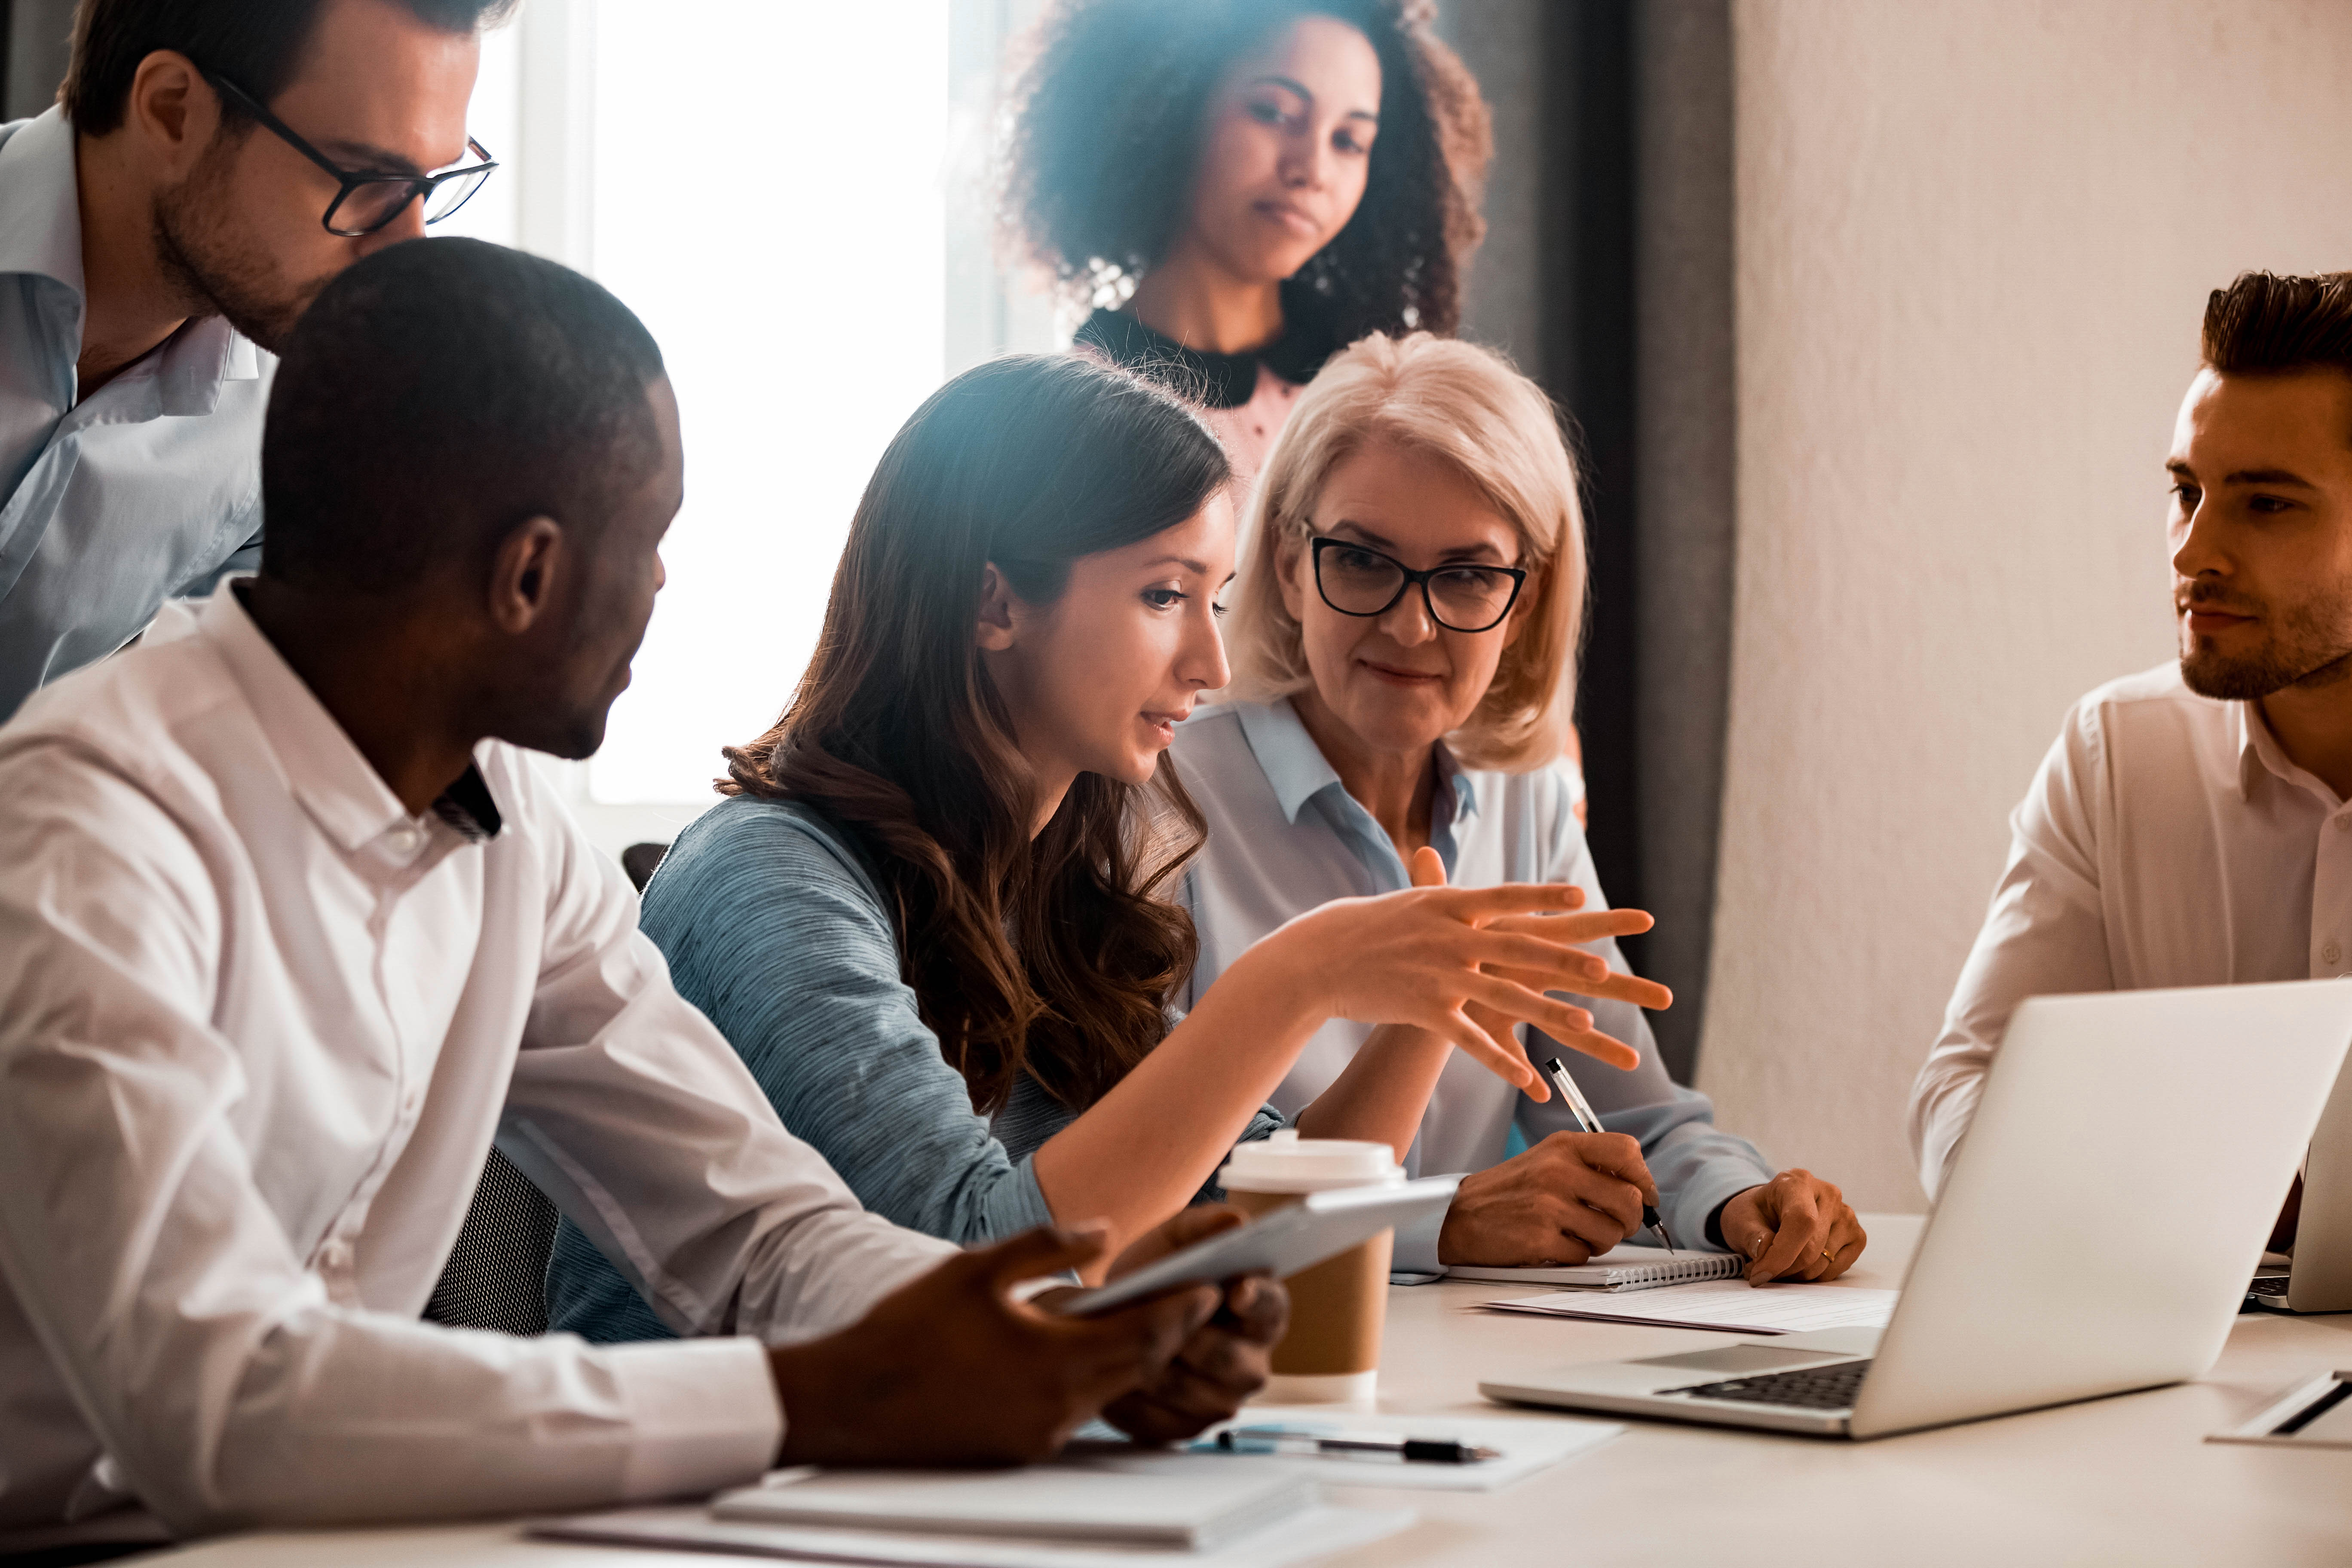
{"type": "MultiPolygon", "coordinates": [[[[82,348],[85,280],[73,125],[64,108],[52,106],[0,143],[0,277],[7,275],[54,284],[64,320],[49,341],[49,353],[61,355],[61,364],[52,369],[71,386],[82,348]]],[[[216,315],[191,320],[155,355],[155,400],[141,416],[212,414],[223,381],[254,381],[259,374],[252,339],[216,315]]],[[[122,371],[122,381],[134,378],[143,378],[143,367],[122,371]]]]}

